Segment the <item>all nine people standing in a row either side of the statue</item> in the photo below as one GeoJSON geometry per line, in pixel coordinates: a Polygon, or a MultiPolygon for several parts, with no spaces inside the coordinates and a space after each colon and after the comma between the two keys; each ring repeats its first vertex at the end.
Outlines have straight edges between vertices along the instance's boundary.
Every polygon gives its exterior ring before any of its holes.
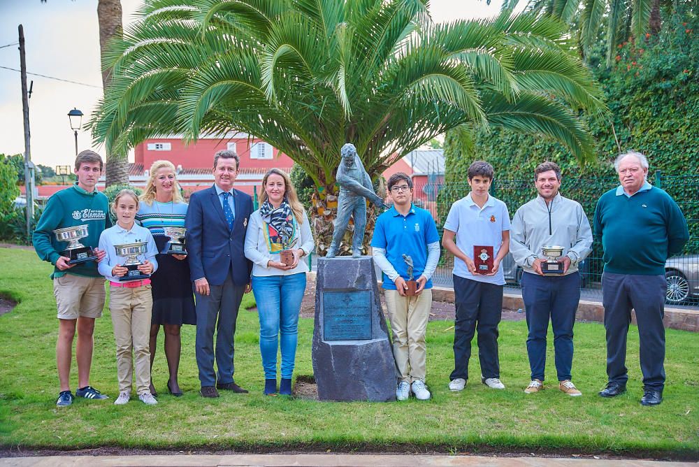
{"type": "MultiPolygon", "coordinates": [[[[214,185],[192,194],[187,204],[173,164],[155,161],[143,194],[137,196],[124,189],[108,206],[107,197],[96,189],[103,169],[101,157],[89,150],[80,152],[75,159],[77,182],[49,199],[33,238],[38,256],[55,266],[57,405],[73,402],[69,375],[76,331],[75,396],[108,398],[89,385],[94,320],[104,306],[105,279],[117,346],[119,395],[115,404],[129,402],[134,373],[138,399],[147,405],[157,403],[151,371],[161,326],[169,372],[166,387],[173,396],[182,396],[178,383],[182,324],[196,325],[201,396],[215,398],[219,390],[247,393],[234,379],[233,360],[238,308],[243,294],[251,290],[259,315],[264,394],[291,394],[298,315],[308,272],[304,258],[315,249],[315,243],[289,175],[278,168],[268,171],[262,180],[259,209],[253,210],[251,197],[233,187],[239,164],[235,152],[217,152],[212,169],[214,185]],[[116,224],[110,220],[110,210],[116,224]],[[84,224],[88,236],[82,243],[94,247],[96,261],[72,264],[62,253],[64,243],[53,231],[84,224]],[[166,251],[171,240],[166,236],[167,227],[187,229],[186,254],[166,251]],[[138,254],[136,271],[126,267],[124,257],[115,249],[131,243],[145,245],[145,252],[138,254]]],[[[617,396],[626,388],[626,333],[634,308],[644,375],[642,403],[655,405],[662,401],[665,381],[663,266],[665,259],[682,250],[689,232],[675,201],[647,182],[648,163],[643,155],[621,155],[615,168],[621,185],[600,198],[594,217],[595,233],[605,249],[603,304],[609,382],[600,395],[617,396]]],[[[471,164],[471,191],[452,205],[441,240],[454,254],[456,319],[449,389],[461,391],[466,386],[470,343],[476,332],[482,382],[493,389],[505,388],[498,359],[505,285],[500,263],[511,251],[524,268],[522,296],[531,366],[531,383],[525,392],[544,389],[550,319],[559,389],[579,396],[571,381],[572,328],[579,301],[577,265],[591,251],[590,224],[579,203],[559,194],[561,171],[552,162],[536,168],[538,196],[521,206],[512,222],[505,203],[489,194],[493,178],[493,167],[487,162],[471,164]],[[562,275],[542,273],[543,245],[564,247],[562,275]],[[481,246],[492,248],[493,257],[486,261],[491,265],[489,271],[476,267],[474,247],[481,246]]],[[[412,203],[412,190],[408,175],[391,176],[388,191],[393,206],[377,218],[371,240],[375,263],[383,271],[398,400],[411,393],[421,400],[431,397],[425,385],[425,333],[440,238],[430,213],[412,203]],[[407,285],[413,276],[417,277],[415,294],[408,292],[407,285]]]]}

